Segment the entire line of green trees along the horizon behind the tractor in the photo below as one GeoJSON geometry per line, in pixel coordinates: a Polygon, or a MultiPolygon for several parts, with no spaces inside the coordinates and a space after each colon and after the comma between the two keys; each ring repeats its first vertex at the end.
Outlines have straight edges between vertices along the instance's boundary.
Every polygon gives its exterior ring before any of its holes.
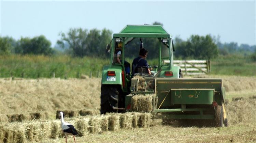
{"type": "MultiPolygon", "coordinates": [[[[160,22],[154,22],[153,25],[162,25],[160,22]]],[[[22,37],[15,40],[12,37],[0,36],[0,54],[44,54],[56,55],[59,53],[71,54],[75,57],[97,56],[108,57],[105,52],[106,44],[112,39],[113,32],[109,29],[82,29],[71,28],[67,33],[60,32],[60,39],[55,48],[51,47],[51,42],[44,36],[35,36],[33,38],[22,37]],[[61,50],[59,50],[61,48],[61,50]],[[63,52],[60,52],[63,51],[63,52]]],[[[210,34],[205,36],[191,35],[186,41],[179,37],[174,38],[174,56],[179,59],[213,59],[219,54],[244,54],[250,56],[256,61],[256,45],[237,43],[221,43],[220,37],[217,38],[210,34]],[[252,54],[253,53],[253,54],[252,54]]],[[[149,51],[148,58],[158,57],[158,39],[142,38],[144,47],[149,51]]],[[[134,39],[126,46],[126,57],[134,58],[138,56],[140,49],[140,38],[134,39]]],[[[162,47],[165,47],[162,45],[162,47]]],[[[162,48],[162,55],[168,49],[162,48]]]]}

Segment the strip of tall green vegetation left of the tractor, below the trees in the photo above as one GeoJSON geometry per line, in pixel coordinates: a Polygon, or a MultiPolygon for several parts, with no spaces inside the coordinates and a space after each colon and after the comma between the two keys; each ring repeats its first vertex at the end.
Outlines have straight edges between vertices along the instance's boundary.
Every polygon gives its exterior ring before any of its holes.
{"type": "MultiPolygon", "coordinates": [[[[75,78],[82,74],[98,76],[98,70],[103,65],[109,64],[109,60],[99,59],[97,57],[89,58],[72,58],[70,56],[53,56],[44,55],[10,55],[0,56],[0,77],[55,77],[75,78]]],[[[101,75],[99,75],[101,76],[101,75]]]]}

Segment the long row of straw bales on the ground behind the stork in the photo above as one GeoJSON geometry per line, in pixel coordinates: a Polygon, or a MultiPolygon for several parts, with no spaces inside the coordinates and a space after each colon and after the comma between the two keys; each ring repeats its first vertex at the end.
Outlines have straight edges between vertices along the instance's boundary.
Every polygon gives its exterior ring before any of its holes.
{"type": "MultiPolygon", "coordinates": [[[[65,121],[76,127],[79,136],[84,136],[89,132],[100,133],[108,130],[116,131],[119,128],[148,127],[151,124],[151,114],[139,112],[110,113],[65,118],[65,121]]],[[[60,120],[34,120],[0,124],[0,142],[42,142],[45,138],[63,137],[60,120]]]]}

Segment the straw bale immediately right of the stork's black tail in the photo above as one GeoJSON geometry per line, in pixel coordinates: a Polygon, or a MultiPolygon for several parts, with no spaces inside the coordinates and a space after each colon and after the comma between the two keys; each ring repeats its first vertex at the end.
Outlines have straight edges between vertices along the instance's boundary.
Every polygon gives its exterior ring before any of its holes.
{"type": "Polygon", "coordinates": [[[76,120],[76,130],[79,137],[84,136],[88,132],[90,118],[79,118],[76,120]]]}

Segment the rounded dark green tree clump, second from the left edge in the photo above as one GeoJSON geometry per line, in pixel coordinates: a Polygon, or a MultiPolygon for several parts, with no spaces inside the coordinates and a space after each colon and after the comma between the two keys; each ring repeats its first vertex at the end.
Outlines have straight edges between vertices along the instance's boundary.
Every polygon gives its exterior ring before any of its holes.
{"type": "Polygon", "coordinates": [[[15,53],[51,55],[53,49],[51,48],[51,42],[41,35],[32,39],[28,37],[20,38],[15,48],[15,53]]]}

